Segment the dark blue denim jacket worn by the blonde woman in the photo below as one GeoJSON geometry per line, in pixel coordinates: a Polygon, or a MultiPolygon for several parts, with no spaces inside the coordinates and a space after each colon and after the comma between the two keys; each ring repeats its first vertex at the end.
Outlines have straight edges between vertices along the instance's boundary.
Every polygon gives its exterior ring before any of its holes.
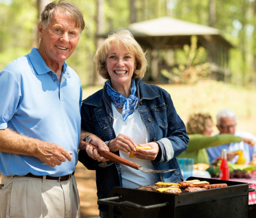
{"type": "MultiPolygon", "coordinates": [[[[136,79],[138,108],[148,129],[150,142],[158,142],[164,148],[164,160],[156,163],[153,168],[177,169],[168,173],[156,173],[157,181],[175,182],[183,180],[176,157],[187,149],[189,137],[186,127],[177,115],[171,96],[155,85],[146,84],[136,79]]],[[[106,85],[105,85],[106,86],[106,85]]],[[[108,142],[116,137],[113,130],[111,100],[106,94],[106,87],[83,100],[81,106],[81,128],[108,142]]],[[[115,152],[119,155],[119,152],[115,152]]],[[[99,164],[87,156],[86,151],[79,151],[79,161],[90,170],[96,170],[98,198],[108,198],[111,189],[122,186],[121,166],[119,163],[99,164]],[[106,167],[102,167],[106,166],[106,167]]],[[[145,184],[148,185],[148,184],[145,184]]],[[[108,205],[99,205],[99,210],[108,211],[108,205]]]]}

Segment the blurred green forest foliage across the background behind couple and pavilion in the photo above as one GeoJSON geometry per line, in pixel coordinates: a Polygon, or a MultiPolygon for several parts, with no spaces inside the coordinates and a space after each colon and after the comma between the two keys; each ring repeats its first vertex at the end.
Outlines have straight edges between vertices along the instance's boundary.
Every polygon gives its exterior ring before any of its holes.
{"type": "MultiPolygon", "coordinates": [[[[77,71],[82,83],[86,85],[95,71],[92,57],[96,49],[96,0],[70,1],[81,9],[85,29],[68,63],[77,71]]],[[[237,84],[256,81],[256,72],[253,69],[253,56],[256,55],[254,3],[255,0],[215,0],[214,27],[220,29],[224,37],[235,46],[230,52],[229,67],[233,73],[232,82],[237,84]]],[[[29,52],[35,44],[38,22],[36,4],[37,0],[0,0],[1,69],[13,58],[19,57],[22,51],[29,52]]],[[[105,0],[105,31],[128,26],[129,8],[128,0],[105,0]]],[[[208,25],[209,1],[141,0],[136,1],[136,14],[137,21],[171,15],[174,18],[208,25]]],[[[182,53],[184,51],[176,52],[175,61],[177,62],[175,64],[187,64],[184,61],[189,58],[185,58],[182,53]]],[[[201,57],[201,62],[194,60],[193,66],[202,63],[203,58],[201,57]]],[[[177,67],[177,69],[182,69],[182,67],[177,67]]]]}

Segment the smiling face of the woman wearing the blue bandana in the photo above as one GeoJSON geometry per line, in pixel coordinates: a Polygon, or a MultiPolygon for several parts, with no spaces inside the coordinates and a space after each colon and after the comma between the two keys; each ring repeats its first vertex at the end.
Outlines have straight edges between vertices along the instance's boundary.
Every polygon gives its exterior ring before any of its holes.
{"type": "Polygon", "coordinates": [[[112,87],[116,89],[121,85],[130,89],[135,68],[134,54],[125,47],[117,47],[113,43],[107,55],[106,65],[112,87]]]}

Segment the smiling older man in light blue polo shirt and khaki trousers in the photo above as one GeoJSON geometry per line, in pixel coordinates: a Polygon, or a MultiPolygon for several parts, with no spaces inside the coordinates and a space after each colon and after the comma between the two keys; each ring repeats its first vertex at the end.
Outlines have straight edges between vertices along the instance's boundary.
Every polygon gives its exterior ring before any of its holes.
{"type": "MultiPolygon", "coordinates": [[[[80,217],[73,174],[82,88],[65,60],[83,29],[77,6],[49,3],[38,24],[39,48],[0,72],[1,218],[80,217]]],[[[105,146],[99,138],[90,138],[105,146]]]]}

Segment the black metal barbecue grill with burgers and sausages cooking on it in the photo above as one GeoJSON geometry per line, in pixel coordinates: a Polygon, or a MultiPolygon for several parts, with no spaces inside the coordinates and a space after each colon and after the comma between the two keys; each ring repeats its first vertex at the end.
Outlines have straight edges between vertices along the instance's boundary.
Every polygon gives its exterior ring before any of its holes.
{"type": "Polygon", "coordinates": [[[113,208],[122,218],[248,218],[248,192],[250,183],[189,177],[187,180],[206,180],[210,184],[227,183],[227,187],[198,192],[182,192],[178,195],[139,189],[114,187],[110,198],[99,203],[109,205],[109,217],[113,208]]]}

